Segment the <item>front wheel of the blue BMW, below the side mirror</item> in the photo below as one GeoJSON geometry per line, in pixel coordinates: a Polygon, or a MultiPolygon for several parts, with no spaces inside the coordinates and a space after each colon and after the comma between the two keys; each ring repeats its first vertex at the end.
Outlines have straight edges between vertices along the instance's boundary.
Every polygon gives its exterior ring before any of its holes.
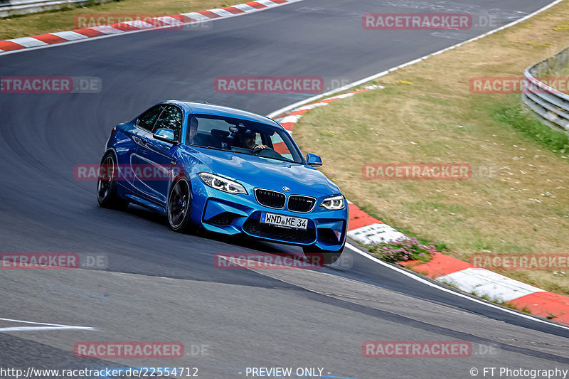
{"type": "Polygon", "coordinates": [[[167,213],[171,230],[178,233],[188,231],[191,224],[191,191],[186,178],[181,178],[172,184],[167,213]]]}

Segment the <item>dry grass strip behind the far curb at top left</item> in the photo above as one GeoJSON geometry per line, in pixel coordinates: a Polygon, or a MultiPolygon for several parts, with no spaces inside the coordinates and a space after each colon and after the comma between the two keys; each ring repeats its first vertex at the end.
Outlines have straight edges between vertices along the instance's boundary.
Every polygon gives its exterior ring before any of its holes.
{"type": "Polygon", "coordinates": [[[38,14],[0,18],[0,40],[37,36],[54,31],[76,29],[75,16],[81,14],[113,14],[167,16],[206,9],[219,8],[243,1],[220,0],[121,0],[91,6],[70,6],[65,9],[45,11],[38,14]]]}

